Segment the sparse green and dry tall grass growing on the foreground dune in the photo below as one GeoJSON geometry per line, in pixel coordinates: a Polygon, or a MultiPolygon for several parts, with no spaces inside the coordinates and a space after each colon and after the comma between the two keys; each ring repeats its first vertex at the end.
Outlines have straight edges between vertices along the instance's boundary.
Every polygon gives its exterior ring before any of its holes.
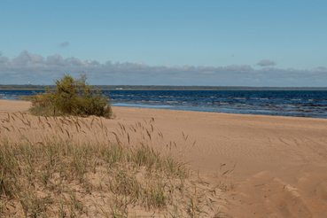
{"type": "Polygon", "coordinates": [[[96,117],[8,113],[0,125],[0,215],[219,217],[215,188],[153,146],[163,137],[153,121],[109,132],[96,117]]]}

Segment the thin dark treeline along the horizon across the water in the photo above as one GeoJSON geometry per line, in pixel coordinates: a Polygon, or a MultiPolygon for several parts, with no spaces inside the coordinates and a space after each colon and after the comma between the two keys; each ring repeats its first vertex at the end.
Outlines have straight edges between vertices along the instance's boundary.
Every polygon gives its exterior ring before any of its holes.
{"type": "MultiPolygon", "coordinates": [[[[0,85],[0,90],[44,90],[55,85],[0,85]]],[[[245,87],[245,86],[140,86],[140,85],[94,85],[101,90],[327,90],[327,87],[245,87]]]]}

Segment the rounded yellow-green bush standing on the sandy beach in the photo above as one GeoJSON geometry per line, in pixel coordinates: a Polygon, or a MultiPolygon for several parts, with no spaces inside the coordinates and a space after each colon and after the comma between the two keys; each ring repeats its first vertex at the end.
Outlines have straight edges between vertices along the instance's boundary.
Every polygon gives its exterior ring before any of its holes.
{"type": "Polygon", "coordinates": [[[56,90],[47,88],[44,93],[31,97],[30,112],[43,116],[96,115],[110,118],[109,98],[101,90],[95,92],[86,79],[85,74],[79,80],[74,80],[69,74],[64,75],[55,81],[56,90]]]}

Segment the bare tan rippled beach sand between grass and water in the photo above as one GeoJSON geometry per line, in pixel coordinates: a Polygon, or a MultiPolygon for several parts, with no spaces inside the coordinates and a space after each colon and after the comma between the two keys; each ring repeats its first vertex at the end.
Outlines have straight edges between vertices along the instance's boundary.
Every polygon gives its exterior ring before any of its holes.
{"type": "MultiPolygon", "coordinates": [[[[0,118],[29,106],[0,100],[0,118]]],[[[229,184],[223,210],[232,217],[327,217],[327,120],[128,107],[113,113],[104,121],[109,130],[154,118],[167,144],[179,144],[175,158],[211,183],[229,184]]]]}

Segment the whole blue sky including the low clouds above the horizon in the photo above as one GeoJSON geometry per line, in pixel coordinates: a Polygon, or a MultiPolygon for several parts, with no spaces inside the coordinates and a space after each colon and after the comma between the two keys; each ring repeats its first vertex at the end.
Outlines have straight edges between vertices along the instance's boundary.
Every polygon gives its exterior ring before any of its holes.
{"type": "Polygon", "coordinates": [[[327,86],[325,0],[0,3],[0,84],[327,86]]]}

